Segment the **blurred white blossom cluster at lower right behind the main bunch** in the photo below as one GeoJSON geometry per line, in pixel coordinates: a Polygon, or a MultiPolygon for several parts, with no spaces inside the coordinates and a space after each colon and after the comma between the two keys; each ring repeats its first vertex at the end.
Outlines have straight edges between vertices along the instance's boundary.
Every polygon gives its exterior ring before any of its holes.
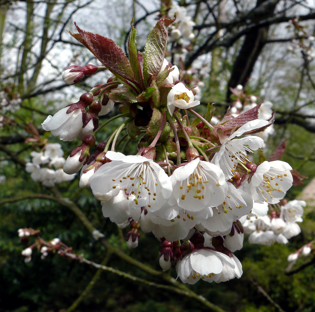
{"type": "Polygon", "coordinates": [[[241,222],[244,232],[249,235],[249,243],[271,245],[275,242],[287,244],[288,239],[301,233],[296,222],[302,222],[303,200],[282,200],[277,204],[264,204],[269,212],[265,216],[257,216],[253,211],[243,216],[241,222]]]}

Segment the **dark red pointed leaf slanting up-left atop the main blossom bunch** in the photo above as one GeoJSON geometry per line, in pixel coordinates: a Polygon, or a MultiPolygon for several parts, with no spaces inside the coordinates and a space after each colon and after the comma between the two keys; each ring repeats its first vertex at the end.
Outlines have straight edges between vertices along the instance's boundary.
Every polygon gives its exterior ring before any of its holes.
{"type": "Polygon", "coordinates": [[[134,80],[134,73],[123,50],[114,41],[99,34],[93,34],[80,29],[76,23],[79,34],[72,34],[75,39],[87,47],[115,76],[129,81],[134,80]]]}

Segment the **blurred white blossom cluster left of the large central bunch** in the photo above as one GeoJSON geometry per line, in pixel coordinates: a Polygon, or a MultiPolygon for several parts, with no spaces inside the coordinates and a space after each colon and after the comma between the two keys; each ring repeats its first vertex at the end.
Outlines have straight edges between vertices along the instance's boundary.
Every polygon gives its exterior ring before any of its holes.
{"type": "Polygon", "coordinates": [[[34,181],[42,182],[45,186],[54,186],[55,183],[71,181],[75,174],[64,172],[65,159],[59,143],[49,143],[41,152],[32,151],[31,162],[26,163],[26,172],[31,173],[34,181]],[[46,167],[47,166],[47,167],[46,167]]]}

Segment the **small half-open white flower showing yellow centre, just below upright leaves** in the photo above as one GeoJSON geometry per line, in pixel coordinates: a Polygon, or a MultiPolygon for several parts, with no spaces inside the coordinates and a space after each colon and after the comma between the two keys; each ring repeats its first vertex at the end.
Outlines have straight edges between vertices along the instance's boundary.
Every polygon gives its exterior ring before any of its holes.
{"type": "Polygon", "coordinates": [[[200,104],[200,101],[194,101],[194,95],[183,83],[178,83],[172,87],[167,95],[167,108],[173,115],[176,107],[187,109],[200,104]]]}

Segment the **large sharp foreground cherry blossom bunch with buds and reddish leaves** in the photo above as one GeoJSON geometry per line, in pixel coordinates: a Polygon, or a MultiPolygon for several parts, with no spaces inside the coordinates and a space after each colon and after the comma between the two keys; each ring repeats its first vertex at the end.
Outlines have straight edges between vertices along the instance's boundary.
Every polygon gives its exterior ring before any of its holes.
{"type": "MultiPolygon", "coordinates": [[[[207,114],[198,113],[196,92],[164,58],[167,27],[174,21],[157,22],[145,53],[136,49],[132,28],[129,59],[110,39],[76,25],[78,34],[72,36],[114,76],[42,125],[60,140],[82,140],[64,171],[81,170],[79,186],[91,188],[103,215],[129,227],[129,248],[138,246],[141,231],[152,232],[161,241],[163,270],[174,265],[185,283],[222,282],[242,275],[233,255],[243,246],[240,219],[266,216],[268,204],[278,204],[291,187],[292,168],[280,160],[254,162],[264,145],[254,134],[271,126],[270,106],[252,98],[248,109],[243,101],[215,122],[210,104],[207,114]],[[99,115],[114,105],[120,114],[99,125],[99,115]],[[118,118],[119,126],[99,141],[98,132],[118,118]],[[132,141],[136,155],[127,152],[132,141]]],[[[68,68],[67,83],[81,79],[78,73],[86,66],[68,68]]],[[[239,87],[236,91],[244,96],[239,87]]],[[[288,215],[283,212],[283,222],[291,222],[288,215]]]]}

